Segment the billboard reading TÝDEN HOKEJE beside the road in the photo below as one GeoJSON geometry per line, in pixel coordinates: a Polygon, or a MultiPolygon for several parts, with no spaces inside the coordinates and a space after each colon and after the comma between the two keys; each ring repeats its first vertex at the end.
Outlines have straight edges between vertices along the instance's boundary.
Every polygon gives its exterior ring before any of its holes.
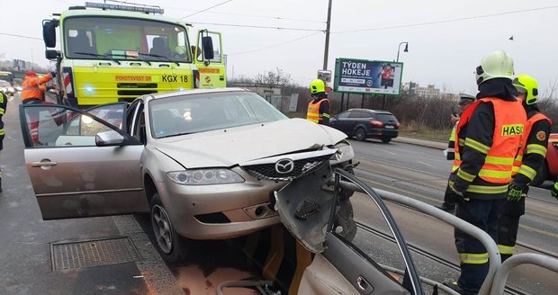
{"type": "Polygon", "coordinates": [[[384,60],[336,58],[335,92],[398,95],[403,63],[384,60]]]}

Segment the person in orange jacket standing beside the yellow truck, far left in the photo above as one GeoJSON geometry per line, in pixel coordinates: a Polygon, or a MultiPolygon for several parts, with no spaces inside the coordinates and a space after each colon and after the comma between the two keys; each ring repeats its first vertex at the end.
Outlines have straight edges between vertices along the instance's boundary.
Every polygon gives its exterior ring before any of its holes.
{"type": "MultiPolygon", "coordinates": [[[[25,79],[23,79],[22,103],[45,103],[45,84],[55,76],[55,72],[50,72],[45,76],[38,77],[35,72],[28,71],[25,79]]],[[[39,112],[38,110],[29,110],[28,114],[30,117],[31,140],[34,144],[37,144],[39,143],[39,112]]]]}

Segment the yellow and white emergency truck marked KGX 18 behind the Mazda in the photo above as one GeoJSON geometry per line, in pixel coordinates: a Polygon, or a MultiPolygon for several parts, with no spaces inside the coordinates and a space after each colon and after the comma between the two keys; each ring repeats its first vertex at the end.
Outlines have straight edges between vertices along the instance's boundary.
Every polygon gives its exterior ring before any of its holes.
{"type": "Polygon", "coordinates": [[[225,87],[220,33],[198,31],[191,45],[190,26],[163,12],[157,6],[87,2],[44,20],[58,103],[84,108],[131,102],[142,94],[225,87]]]}

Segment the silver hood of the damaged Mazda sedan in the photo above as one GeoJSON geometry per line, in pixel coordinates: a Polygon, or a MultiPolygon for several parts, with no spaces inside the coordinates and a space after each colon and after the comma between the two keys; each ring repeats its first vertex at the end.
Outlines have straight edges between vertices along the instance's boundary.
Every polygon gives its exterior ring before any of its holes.
{"type": "Polygon", "coordinates": [[[229,167],[288,154],[316,145],[334,145],[347,136],[327,126],[289,119],[227,130],[156,139],[155,148],[185,168],[229,167]]]}

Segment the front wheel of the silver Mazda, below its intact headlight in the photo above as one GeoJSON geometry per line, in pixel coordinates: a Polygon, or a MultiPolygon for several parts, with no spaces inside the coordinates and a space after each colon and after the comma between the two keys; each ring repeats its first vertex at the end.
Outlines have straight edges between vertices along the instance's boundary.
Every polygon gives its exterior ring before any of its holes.
{"type": "Polygon", "coordinates": [[[185,238],[176,233],[157,192],[151,198],[150,208],[151,227],[161,257],[169,264],[184,261],[186,258],[185,238]]]}

